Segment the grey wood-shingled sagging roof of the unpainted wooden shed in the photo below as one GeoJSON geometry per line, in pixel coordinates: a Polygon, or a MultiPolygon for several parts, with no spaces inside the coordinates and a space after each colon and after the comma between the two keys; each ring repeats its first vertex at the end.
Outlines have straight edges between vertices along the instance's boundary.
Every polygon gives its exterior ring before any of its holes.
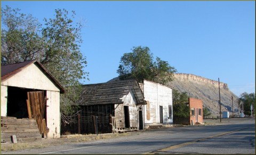
{"type": "Polygon", "coordinates": [[[136,104],[147,104],[137,80],[121,80],[110,83],[83,85],[77,105],[123,104],[122,97],[132,92],[136,104]]]}

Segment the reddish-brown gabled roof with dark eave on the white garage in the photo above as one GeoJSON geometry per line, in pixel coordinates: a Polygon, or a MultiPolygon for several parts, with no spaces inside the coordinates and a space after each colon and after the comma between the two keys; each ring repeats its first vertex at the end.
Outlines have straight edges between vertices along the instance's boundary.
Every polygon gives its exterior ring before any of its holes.
{"type": "Polygon", "coordinates": [[[47,71],[47,69],[40,62],[36,60],[29,60],[1,66],[1,80],[5,80],[12,75],[17,74],[23,68],[26,68],[32,63],[34,63],[52,81],[52,83],[60,89],[60,93],[65,93],[65,89],[60,85],[60,83],[50,74],[49,71],[47,71]]]}

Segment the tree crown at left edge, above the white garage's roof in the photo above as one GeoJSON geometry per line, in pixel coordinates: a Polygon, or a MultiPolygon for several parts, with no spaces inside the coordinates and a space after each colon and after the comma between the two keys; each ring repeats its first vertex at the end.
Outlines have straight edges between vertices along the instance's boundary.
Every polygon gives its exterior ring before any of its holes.
{"type": "Polygon", "coordinates": [[[41,54],[41,24],[32,17],[6,6],[1,9],[1,63],[11,64],[31,60],[41,54]]]}

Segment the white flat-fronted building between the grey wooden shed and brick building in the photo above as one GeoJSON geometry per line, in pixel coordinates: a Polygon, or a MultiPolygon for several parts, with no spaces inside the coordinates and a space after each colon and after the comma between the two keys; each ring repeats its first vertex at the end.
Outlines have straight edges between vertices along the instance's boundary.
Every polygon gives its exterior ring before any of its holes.
{"type": "Polygon", "coordinates": [[[145,128],[173,124],[172,88],[143,80],[140,84],[147,105],[144,105],[145,128]]]}

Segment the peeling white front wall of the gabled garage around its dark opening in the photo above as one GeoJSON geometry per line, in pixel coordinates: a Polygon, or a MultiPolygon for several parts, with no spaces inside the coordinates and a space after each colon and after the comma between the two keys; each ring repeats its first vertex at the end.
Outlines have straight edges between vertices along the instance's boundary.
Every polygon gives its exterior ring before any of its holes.
{"type": "Polygon", "coordinates": [[[46,91],[47,137],[60,137],[60,89],[34,63],[1,81],[1,116],[7,115],[7,86],[46,91]]]}

